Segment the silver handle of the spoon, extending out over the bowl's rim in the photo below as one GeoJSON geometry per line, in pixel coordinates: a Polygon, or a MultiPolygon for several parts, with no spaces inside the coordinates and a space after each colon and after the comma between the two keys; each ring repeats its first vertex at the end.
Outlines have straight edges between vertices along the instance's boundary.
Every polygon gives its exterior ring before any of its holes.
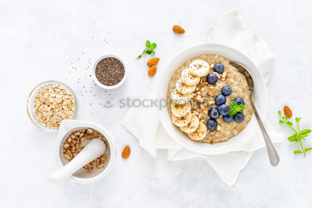
{"type": "Polygon", "coordinates": [[[251,101],[251,107],[252,107],[253,111],[255,112],[257,121],[259,123],[260,129],[261,129],[261,132],[262,132],[262,135],[264,138],[264,141],[266,143],[266,149],[267,149],[268,154],[269,154],[270,163],[272,166],[277,166],[278,163],[280,162],[280,157],[278,156],[276,149],[275,149],[268,133],[266,132],[266,128],[264,127],[264,125],[260,119],[260,116],[257,112],[257,109],[256,109],[256,107],[252,101],[251,101]]]}

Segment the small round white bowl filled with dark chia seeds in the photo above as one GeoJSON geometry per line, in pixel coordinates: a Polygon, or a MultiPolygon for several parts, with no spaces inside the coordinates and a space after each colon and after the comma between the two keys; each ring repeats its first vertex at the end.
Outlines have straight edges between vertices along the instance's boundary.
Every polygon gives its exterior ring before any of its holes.
{"type": "Polygon", "coordinates": [[[115,89],[124,83],[127,76],[124,61],[115,54],[105,54],[97,58],[92,66],[92,78],[105,89],[115,89]]]}

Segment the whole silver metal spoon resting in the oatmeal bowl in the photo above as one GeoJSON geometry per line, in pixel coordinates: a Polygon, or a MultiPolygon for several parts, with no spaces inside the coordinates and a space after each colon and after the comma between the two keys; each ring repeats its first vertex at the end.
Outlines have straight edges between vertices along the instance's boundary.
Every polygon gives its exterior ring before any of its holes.
{"type": "Polygon", "coordinates": [[[249,86],[249,90],[250,90],[250,100],[251,100],[251,107],[253,109],[253,111],[255,112],[258,124],[260,126],[264,141],[266,143],[266,149],[268,151],[269,154],[269,159],[270,159],[270,163],[272,166],[277,166],[277,164],[280,162],[280,157],[278,156],[276,149],[274,148],[274,145],[268,135],[268,133],[266,132],[266,128],[264,127],[259,114],[257,112],[257,109],[253,103],[253,90],[254,90],[254,84],[251,78],[251,75],[248,73],[248,71],[245,69],[245,67],[243,67],[242,65],[231,61],[230,64],[232,66],[234,66],[241,74],[243,74],[246,77],[248,86],[249,86]]]}

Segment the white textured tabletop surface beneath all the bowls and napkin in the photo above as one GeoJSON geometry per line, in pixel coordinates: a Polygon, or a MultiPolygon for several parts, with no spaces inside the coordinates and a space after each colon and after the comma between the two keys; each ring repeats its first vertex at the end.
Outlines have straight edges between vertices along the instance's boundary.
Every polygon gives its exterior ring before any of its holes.
{"type": "MultiPolygon", "coordinates": [[[[251,32],[266,40],[276,55],[275,71],[267,84],[271,123],[285,136],[292,134],[278,123],[277,111],[288,105],[295,116],[302,117],[301,128],[309,128],[310,0],[43,2],[0,1],[1,206],[312,206],[312,152],[306,158],[294,155],[297,143],[275,144],[280,154],[278,167],[271,167],[265,148],[256,151],[236,184],[227,187],[202,158],[168,162],[165,150],[151,157],[120,125],[129,108],[100,105],[110,98],[115,102],[154,93],[167,62],[179,51],[201,43],[217,18],[237,8],[251,32]],[[186,33],[173,33],[174,24],[186,33]],[[155,51],[160,61],[152,78],[147,76],[146,62],[153,56],[134,60],[146,40],[158,44],[155,51]],[[105,53],[123,57],[129,72],[124,85],[107,92],[94,86],[87,68],[91,66],[88,61],[93,63],[105,53]],[[56,189],[48,186],[46,177],[56,171],[57,133],[36,128],[26,111],[29,92],[45,80],[69,85],[78,97],[76,119],[99,123],[114,136],[117,159],[102,180],[92,184],[67,180],[56,189]],[[127,160],[121,158],[125,145],[131,148],[127,160]]],[[[304,141],[306,148],[312,146],[310,137],[304,141]]]]}

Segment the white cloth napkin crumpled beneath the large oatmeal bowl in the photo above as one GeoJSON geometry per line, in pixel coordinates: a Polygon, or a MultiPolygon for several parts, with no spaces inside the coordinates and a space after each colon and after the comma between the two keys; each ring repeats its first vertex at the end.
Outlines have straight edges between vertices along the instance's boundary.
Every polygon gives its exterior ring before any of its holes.
{"type": "MultiPolygon", "coordinates": [[[[205,42],[232,46],[251,58],[261,71],[265,81],[274,69],[275,55],[266,42],[256,34],[250,33],[238,10],[231,10],[212,24],[206,31],[205,42]]],[[[250,160],[253,151],[265,146],[260,129],[251,140],[235,152],[222,155],[202,155],[182,148],[164,130],[159,122],[156,108],[132,107],[122,123],[136,138],[140,146],[156,157],[157,149],[168,149],[168,160],[176,161],[191,157],[203,157],[217,172],[221,179],[232,186],[250,160]],[[151,120],[152,119],[152,120],[151,120]]],[[[266,118],[264,121],[272,142],[281,142],[283,134],[276,133],[266,118]]]]}

